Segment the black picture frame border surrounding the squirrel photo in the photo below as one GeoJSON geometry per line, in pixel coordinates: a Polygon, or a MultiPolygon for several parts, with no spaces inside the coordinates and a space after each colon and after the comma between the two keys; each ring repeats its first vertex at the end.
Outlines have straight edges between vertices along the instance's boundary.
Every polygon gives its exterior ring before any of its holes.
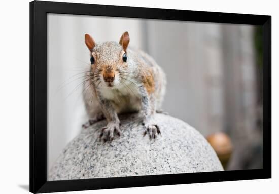
{"type": "Polygon", "coordinates": [[[30,2],[30,192],[271,178],[271,16],[138,8],[81,3],[30,2]],[[47,13],[148,18],[263,27],[263,168],[220,172],[47,181],[47,13]]]}

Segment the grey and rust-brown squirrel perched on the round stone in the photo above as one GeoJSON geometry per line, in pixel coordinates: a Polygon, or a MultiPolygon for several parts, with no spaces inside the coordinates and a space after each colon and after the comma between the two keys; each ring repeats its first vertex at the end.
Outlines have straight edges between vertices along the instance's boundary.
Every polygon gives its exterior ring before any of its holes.
{"type": "Polygon", "coordinates": [[[155,113],[162,113],[166,76],[162,68],[147,53],[128,48],[129,33],[124,32],[119,43],[97,43],[85,34],[85,44],[90,51],[90,69],[85,73],[83,98],[89,121],[107,119],[100,138],[112,141],[114,134],[120,136],[118,114],[142,112],[144,136],[155,139],[161,134],[154,122],[155,113]]]}

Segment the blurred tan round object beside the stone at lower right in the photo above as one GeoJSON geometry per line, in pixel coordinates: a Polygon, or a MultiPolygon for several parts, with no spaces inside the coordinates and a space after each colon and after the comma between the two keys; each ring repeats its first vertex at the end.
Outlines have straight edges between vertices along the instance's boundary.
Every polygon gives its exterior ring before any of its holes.
{"type": "Polygon", "coordinates": [[[230,137],[223,132],[217,132],[208,135],[206,139],[217,153],[224,169],[226,169],[232,154],[232,143],[230,137]]]}

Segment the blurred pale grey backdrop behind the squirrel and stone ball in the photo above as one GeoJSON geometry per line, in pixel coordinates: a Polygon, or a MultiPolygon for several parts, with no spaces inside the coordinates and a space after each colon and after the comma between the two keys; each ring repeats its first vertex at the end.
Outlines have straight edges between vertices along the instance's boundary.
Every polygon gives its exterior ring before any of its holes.
{"type": "Polygon", "coordinates": [[[48,168],[88,119],[84,34],[118,42],[124,31],[164,69],[165,111],[207,137],[225,170],[262,168],[260,26],[64,14],[47,15],[48,168]]]}

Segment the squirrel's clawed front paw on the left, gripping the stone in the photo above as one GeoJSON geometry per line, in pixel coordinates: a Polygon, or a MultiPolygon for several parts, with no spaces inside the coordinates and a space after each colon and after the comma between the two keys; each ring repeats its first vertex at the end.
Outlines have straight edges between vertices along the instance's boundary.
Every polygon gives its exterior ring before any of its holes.
{"type": "Polygon", "coordinates": [[[106,142],[106,141],[112,141],[114,137],[114,132],[120,136],[120,123],[118,122],[109,122],[106,127],[103,127],[101,129],[100,138],[106,142]]]}

